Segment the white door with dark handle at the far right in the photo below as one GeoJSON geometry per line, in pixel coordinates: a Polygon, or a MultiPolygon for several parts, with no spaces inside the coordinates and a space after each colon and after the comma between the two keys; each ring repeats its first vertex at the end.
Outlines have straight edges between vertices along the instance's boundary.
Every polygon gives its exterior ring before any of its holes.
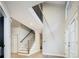
{"type": "Polygon", "coordinates": [[[69,57],[77,57],[77,39],[76,39],[76,21],[75,19],[69,25],[69,57]]]}

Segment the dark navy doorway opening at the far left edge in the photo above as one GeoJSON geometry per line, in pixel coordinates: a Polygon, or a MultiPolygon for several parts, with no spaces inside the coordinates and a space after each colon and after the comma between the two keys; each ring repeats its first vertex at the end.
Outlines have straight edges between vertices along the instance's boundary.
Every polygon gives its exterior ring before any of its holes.
{"type": "Polygon", "coordinates": [[[4,16],[0,7],[0,58],[4,58],[4,16]]]}

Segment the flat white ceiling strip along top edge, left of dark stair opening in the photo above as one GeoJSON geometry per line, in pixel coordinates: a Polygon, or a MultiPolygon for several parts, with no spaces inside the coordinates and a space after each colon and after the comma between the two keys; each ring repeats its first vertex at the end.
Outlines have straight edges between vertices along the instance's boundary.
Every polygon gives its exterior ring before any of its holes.
{"type": "Polygon", "coordinates": [[[5,3],[11,6],[18,5],[18,6],[24,6],[24,7],[32,7],[42,2],[43,1],[6,1],[5,3]]]}

